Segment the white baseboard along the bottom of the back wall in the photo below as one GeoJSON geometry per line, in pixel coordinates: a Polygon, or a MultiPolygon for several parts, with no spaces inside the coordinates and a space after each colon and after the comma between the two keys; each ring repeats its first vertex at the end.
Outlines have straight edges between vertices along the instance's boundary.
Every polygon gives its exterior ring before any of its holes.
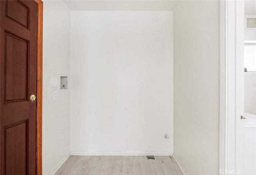
{"type": "Polygon", "coordinates": [[[138,151],[138,152],[122,152],[122,151],[90,151],[90,152],[79,152],[71,151],[70,155],[172,155],[171,152],[161,151],[138,151]]]}

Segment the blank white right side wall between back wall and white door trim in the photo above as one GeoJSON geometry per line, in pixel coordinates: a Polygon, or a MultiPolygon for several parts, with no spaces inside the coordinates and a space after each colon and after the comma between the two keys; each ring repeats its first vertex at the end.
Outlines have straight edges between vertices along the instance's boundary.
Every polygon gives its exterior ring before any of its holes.
{"type": "Polygon", "coordinates": [[[218,175],[219,2],[174,3],[174,156],[187,175],[218,175]]]}

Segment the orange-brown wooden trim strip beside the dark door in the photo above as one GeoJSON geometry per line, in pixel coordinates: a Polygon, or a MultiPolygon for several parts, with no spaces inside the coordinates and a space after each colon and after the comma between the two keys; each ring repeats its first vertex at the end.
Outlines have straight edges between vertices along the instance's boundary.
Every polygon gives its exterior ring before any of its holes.
{"type": "Polygon", "coordinates": [[[43,2],[38,5],[37,21],[37,83],[36,83],[36,175],[42,175],[42,75],[43,75],[43,2]]]}

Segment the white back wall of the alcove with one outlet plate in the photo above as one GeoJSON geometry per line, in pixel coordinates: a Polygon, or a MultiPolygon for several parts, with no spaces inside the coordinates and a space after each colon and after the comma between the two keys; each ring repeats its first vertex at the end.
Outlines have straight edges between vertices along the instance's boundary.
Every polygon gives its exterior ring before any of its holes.
{"type": "Polygon", "coordinates": [[[172,12],[71,11],[70,90],[72,154],[172,153],[172,12]]]}

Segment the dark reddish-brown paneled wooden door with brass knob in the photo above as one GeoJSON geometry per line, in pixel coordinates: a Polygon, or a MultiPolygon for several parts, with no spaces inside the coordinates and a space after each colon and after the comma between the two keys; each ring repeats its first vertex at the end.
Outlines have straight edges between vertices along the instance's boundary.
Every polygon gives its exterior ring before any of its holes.
{"type": "Polygon", "coordinates": [[[37,4],[0,0],[1,175],[36,175],[37,4]]]}

